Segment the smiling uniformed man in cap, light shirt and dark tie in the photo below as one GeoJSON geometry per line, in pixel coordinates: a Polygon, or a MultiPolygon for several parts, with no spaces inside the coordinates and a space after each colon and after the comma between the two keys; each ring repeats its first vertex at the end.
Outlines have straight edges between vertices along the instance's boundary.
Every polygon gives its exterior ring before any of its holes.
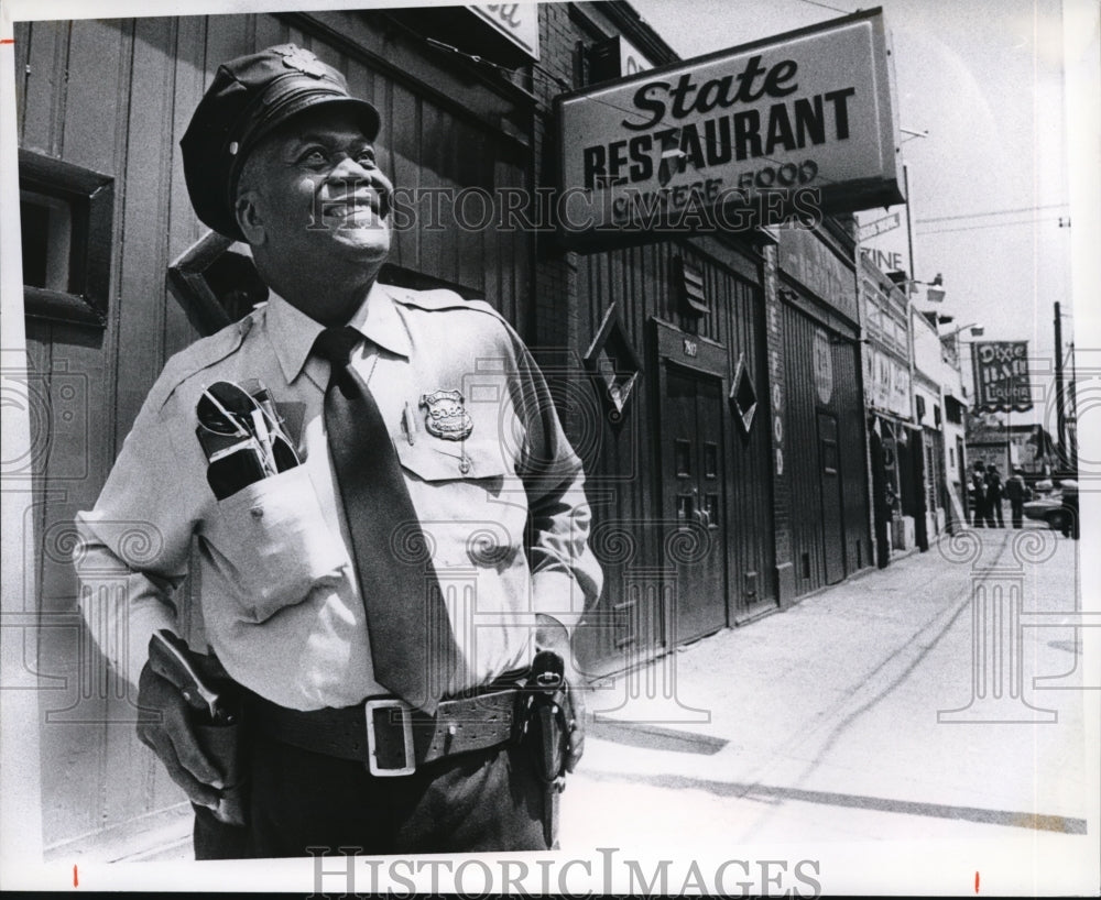
{"type": "Polygon", "coordinates": [[[539,721],[560,720],[565,768],[581,753],[576,691],[547,707],[515,690],[544,649],[568,673],[600,591],[580,462],[488,305],[379,283],[378,131],[294,45],[219,68],[181,142],[187,187],[271,296],[168,361],[77,517],[85,618],[139,687],[139,736],[195,804],[199,858],[544,849],[539,721]],[[249,738],[244,827],[211,812],[228,786],[195,691],[150,665],[154,633],[198,618],[189,659],[228,673],[249,738]]]}

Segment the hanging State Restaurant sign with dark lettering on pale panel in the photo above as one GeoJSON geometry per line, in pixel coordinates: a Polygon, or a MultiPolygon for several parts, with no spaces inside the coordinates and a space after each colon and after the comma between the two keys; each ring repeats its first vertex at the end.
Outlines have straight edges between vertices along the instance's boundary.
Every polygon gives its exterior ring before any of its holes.
{"type": "Polygon", "coordinates": [[[563,241],[901,202],[890,69],[875,9],[559,97],[563,241]]]}

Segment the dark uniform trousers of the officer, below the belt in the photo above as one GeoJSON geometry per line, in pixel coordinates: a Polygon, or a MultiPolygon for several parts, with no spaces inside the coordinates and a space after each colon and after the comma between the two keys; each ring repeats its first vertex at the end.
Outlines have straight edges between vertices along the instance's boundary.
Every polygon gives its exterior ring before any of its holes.
{"type": "Polygon", "coordinates": [[[249,823],[195,808],[195,858],[548,849],[544,788],[526,745],[461,754],[401,777],[266,739],[253,742],[249,823]],[[348,850],[351,853],[351,850],[348,850]]]}

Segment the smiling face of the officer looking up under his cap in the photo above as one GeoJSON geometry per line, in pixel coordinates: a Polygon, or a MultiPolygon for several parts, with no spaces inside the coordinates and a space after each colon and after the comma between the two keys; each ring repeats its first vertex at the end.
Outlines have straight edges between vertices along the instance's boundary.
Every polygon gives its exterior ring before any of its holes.
{"type": "Polygon", "coordinates": [[[250,153],[237,218],[280,293],[303,278],[373,279],[390,252],[392,191],[357,117],[319,106],[250,153]]]}

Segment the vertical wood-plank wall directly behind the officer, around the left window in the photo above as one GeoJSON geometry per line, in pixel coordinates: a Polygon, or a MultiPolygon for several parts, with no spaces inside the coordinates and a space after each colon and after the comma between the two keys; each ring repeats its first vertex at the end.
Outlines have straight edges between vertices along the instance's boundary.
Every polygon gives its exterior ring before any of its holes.
{"type": "MultiPolygon", "coordinates": [[[[183,800],[138,745],[132,698],[80,626],[68,555],[73,516],[95,503],[165,360],[198,337],[167,294],[165,272],[206,231],[187,198],[178,141],[217,66],[285,41],[310,47],[345,73],[353,94],[378,106],[380,164],[395,185],[528,185],[524,142],[489,124],[515,113],[511,101],[472,79],[450,78],[411,39],[379,22],[333,12],[319,13],[313,24],[220,15],[17,28],[20,146],[116,179],[106,329],[28,319],[32,380],[41,395],[32,420],[43,449],[33,460],[40,502],[21,546],[39,567],[40,585],[40,595],[24,604],[41,611],[44,626],[39,659],[47,847],[183,800]]],[[[531,248],[522,231],[413,229],[396,235],[391,259],[481,293],[526,329],[531,248]]]]}

